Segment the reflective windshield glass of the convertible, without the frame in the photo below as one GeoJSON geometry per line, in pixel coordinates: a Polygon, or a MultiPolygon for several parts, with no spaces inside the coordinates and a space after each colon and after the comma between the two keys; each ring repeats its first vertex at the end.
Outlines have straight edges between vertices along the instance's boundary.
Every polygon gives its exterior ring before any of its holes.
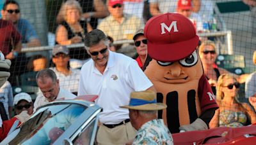
{"type": "Polygon", "coordinates": [[[54,104],[36,111],[10,144],[52,144],[84,112],[79,104],[54,104]]]}

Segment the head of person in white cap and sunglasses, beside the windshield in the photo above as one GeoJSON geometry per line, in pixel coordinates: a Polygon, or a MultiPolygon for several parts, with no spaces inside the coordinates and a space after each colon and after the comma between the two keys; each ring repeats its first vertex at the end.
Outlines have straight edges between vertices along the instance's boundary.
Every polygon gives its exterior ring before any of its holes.
{"type": "Polygon", "coordinates": [[[13,106],[15,108],[15,114],[20,114],[22,111],[28,111],[28,114],[33,114],[33,102],[28,93],[17,93],[14,96],[13,106]]]}

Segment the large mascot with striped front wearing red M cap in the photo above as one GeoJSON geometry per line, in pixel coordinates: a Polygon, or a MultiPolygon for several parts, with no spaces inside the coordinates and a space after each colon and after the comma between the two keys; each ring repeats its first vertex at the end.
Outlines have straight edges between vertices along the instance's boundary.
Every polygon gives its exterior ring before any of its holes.
{"type": "Polygon", "coordinates": [[[172,133],[207,129],[218,105],[196,50],[199,38],[192,22],[166,13],[148,20],[144,35],[152,57],[145,74],[157,90],[157,102],[168,106],[159,118],[172,133]]]}

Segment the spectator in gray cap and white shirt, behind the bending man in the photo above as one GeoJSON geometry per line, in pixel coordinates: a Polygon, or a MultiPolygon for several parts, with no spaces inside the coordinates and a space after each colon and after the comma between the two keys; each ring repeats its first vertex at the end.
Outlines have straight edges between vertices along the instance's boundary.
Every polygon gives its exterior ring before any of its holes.
{"type": "Polygon", "coordinates": [[[66,46],[56,45],[52,49],[52,62],[55,67],[51,67],[60,81],[60,87],[77,94],[79,84],[79,69],[70,69],[69,51],[66,46]]]}

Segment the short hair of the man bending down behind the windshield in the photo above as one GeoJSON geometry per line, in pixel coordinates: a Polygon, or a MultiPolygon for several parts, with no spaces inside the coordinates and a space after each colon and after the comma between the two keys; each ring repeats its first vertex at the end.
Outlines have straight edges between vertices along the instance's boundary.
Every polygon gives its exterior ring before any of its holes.
{"type": "Polygon", "coordinates": [[[57,76],[54,71],[51,69],[43,69],[42,71],[38,71],[36,74],[36,83],[38,83],[38,79],[42,80],[42,83],[45,83],[44,79],[45,78],[51,78],[52,83],[56,83],[57,81],[57,76]]]}

